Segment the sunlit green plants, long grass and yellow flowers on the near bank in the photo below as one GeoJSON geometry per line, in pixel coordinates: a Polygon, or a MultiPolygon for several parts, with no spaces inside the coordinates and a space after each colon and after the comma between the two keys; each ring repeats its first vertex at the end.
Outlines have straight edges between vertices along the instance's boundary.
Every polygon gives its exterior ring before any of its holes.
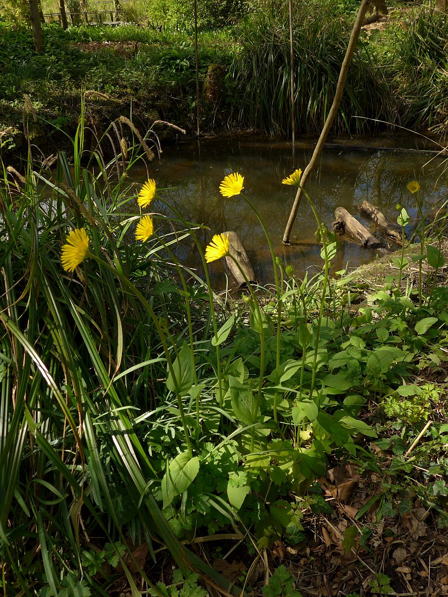
{"type": "MultiPolygon", "coordinates": [[[[347,515],[342,553],[372,551],[375,524],[411,516],[417,501],[446,527],[443,390],[421,383],[446,367],[439,248],[421,234],[425,285],[401,281],[401,255],[397,278],[364,296],[345,272],[330,278],[337,242],[317,221],[320,272],[297,279],[266,236],[274,287],[219,297],[207,261],[229,255],[225,237],[204,254],[196,224],[174,213],[162,233],[167,218],[154,213],[154,234],[136,241],[140,189],[125,173],[139,155],[122,147],[106,164],[97,148],[82,165],[84,132],[73,165],[63,153],[52,172],[30,160],[24,176],[4,168],[0,186],[4,594],[199,597],[200,576],[232,590],[186,545],[220,537],[253,562],[279,541],[297,549],[314,534],[307,516],[332,512],[323,479],[344,462],[376,482],[366,477],[347,515]],[[79,229],[88,250],[65,272],[61,247],[79,229]],[[201,255],[202,279],[176,260],[184,243],[201,255]],[[168,586],[154,570],[164,550],[179,568],[168,586]]],[[[223,201],[257,214],[243,182],[225,179],[223,201]]],[[[157,181],[147,188],[146,216],[153,195],[164,202],[157,181]]],[[[370,586],[389,586],[372,565],[370,586]]],[[[264,595],[300,595],[283,568],[264,595]]],[[[256,591],[251,574],[234,580],[256,591]]]]}

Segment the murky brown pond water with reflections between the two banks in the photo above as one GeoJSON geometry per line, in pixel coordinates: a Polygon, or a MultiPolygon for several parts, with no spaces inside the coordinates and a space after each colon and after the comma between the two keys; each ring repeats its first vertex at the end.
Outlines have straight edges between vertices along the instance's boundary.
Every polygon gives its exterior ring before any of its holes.
{"type": "MultiPolygon", "coordinates": [[[[389,150],[383,147],[372,148],[376,143],[384,146],[385,141],[351,140],[350,147],[329,146],[324,149],[318,168],[308,178],[306,189],[311,195],[321,220],[331,227],[336,207],[345,207],[365,226],[369,221],[359,216],[354,209],[363,199],[367,199],[385,214],[391,222],[397,221],[395,205],[406,207],[411,221],[408,232],[415,226],[415,196],[406,188],[411,180],[421,184],[419,197],[425,213],[430,214],[448,199],[448,175],[443,173],[447,158],[431,152],[431,144],[424,150],[416,150],[413,141],[398,140],[395,143],[413,145],[413,150],[389,150]],[[370,149],[365,149],[369,144],[370,149]],[[429,148],[431,150],[429,150],[429,148]],[[428,150],[426,150],[428,149],[428,150]]],[[[200,230],[199,236],[204,247],[211,236],[225,230],[238,233],[246,248],[248,257],[260,282],[272,282],[272,261],[263,230],[255,214],[236,196],[225,199],[219,193],[223,177],[232,172],[244,176],[244,193],[256,205],[271,235],[275,253],[285,265],[293,264],[296,275],[302,278],[305,271],[310,274],[321,268],[320,245],[315,241],[317,223],[304,197],[297,213],[291,234],[291,246],[285,247],[281,239],[295,197],[295,187],[281,184],[295,168],[305,168],[311,158],[315,140],[302,139],[296,145],[294,159],[291,144],[283,140],[266,137],[224,137],[204,139],[189,143],[179,143],[167,147],[149,167],[149,177],[157,181],[159,193],[185,219],[205,224],[210,230],[200,230]],[[161,190],[165,187],[164,190],[161,190]]],[[[143,182],[148,176],[145,169],[134,170],[131,177],[143,182]]],[[[170,210],[154,202],[151,209],[155,213],[170,216],[170,210]]],[[[375,230],[372,230],[375,233],[375,230]]],[[[365,250],[350,242],[339,243],[333,260],[333,270],[343,269],[347,264],[355,267],[375,259],[377,251],[365,250]]],[[[196,267],[202,275],[194,244],[183,244],[177,248],[177,256],[190,267],[196,267]]],[[[225,284],[222,263],[210,264],[214,285],[225,284]]]]}

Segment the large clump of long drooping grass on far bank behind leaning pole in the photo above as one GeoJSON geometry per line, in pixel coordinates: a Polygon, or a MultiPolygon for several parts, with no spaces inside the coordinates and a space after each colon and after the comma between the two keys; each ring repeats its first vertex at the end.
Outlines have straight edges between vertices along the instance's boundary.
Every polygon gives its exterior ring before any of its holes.
{"type": "MultiPolygon", "coordinates": [[[[296,130],[318,133],[332,104],[349,23],[330,17],[326,5],[312,5],[294,15],[296,130]],[[342,27],[341,27],[342,25],[342,27]],[[342,29],[342,31],[341,31],[342,29]]],[[[240,122],[272,134],[290,130],[289,29],[285,17],[260,14],[241,28],[241,53],[232,65],[234,106],[240,122]]],[[[369,45],[357,50],[344,98],[333,125],[335,133],[366,130],[362,119],[385,119],[394,111],[388,85],[378,76],[369,45]]]]}

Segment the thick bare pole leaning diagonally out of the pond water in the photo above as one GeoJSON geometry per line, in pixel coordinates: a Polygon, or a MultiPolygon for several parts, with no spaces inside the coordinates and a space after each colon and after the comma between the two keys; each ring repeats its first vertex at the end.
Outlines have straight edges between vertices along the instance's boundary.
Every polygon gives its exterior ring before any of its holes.
{"type": "Polygon", "coordinates": [[[333,124],[333,120],[335,119],[337,109],[339,108],[340,100],[342,99],[343,88],[345,85],[345,79],[347,78],[348,68],[350,66],[352,56],[355,51],[356,43],[360,35],[361,26],[363,25],[364,15],[366,14],[368,6],[369,0],[363,0],[361,2],[360,10],[358,10],[358,15],[356,17],[355,24],[352,29],[350,41],[348,42],[348,48],[345,53],[342,66],[340,67],[339,79],[337,80],[336,85],[335,99],[333,100],[332,107],[330,108],[329,115],[327,116],[319,140],[317,141],[314,152],[311,156],[311,160],[309,161],[309,164],[305,168],[305,171],[302,174],[302,178],[300,179],[300,187],[299,189],[297,189],[297,195],[294,199],[294,205],[291,209],[288,223],[286,224],[285,232],[283,235],[283,244],[285,245],[290,244],[289,238],[291,236],[291,228],[293,227],[294,220],[296,219],[297,210],[299,209],[300,205],[300,199],[302,198],[302,187],[305,186],[306,179],[308,178],[308,175],[311,172],[311,170],[314,168],[314,165],[317,162],[317,158],[320,156],[325,140],[327,139],[330,128],[333,124]]]}

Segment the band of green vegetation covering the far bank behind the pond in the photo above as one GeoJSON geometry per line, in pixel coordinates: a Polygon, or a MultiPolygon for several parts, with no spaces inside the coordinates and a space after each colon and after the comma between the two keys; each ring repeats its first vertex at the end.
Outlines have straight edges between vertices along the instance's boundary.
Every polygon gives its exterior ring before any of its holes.
{"type": "MultiPolygon", "coordinates": [[[[176,9],[177,10],[177,9],[176,9]]],[[[180,10],[180,9],[179,9],[180,10]]],[[[226,10],[230,10],[229,7],[226,10]]],[[[244,14],[243,14],[244,13],[244,14]]],[[[290,131],[289,27],[285,7],[256,4],[232,24],[202,24],[199,32],[201,130],[254,128],[290,131]]],[[[185,13],[180,14],[180,17],[185,13]]],[[[294,9],[296,132],[318,133],[332,103],[352,26],[352,7],[329,2],[294,9]]],[[[185,19],[184,19],[185,21],[185,19]]],[[[192,21],[160,27],[83,24],[63,31],[44,26],[45,51],[37,55],[23,24],[2,22],[0,38],[0,143],[4,155],[22,152],[23,94],[35,106],[39,143],[51,148],[74,134],[85,91],[97,133],[119,114],[148,125],[173,122],[196,128],[192,21]],[[159,30],[160,29],[160,30],[159,30]],[[48,124],[50,123],[50,125],[48,124]],[[53,132],[52,132],[53,131],[53,132]]],[[[395,124],[446,131],[447,20],[422,6],[397,10],[385,29],[363,32],[349,69],[335,133],[395,124]]],[[[25,150],[26,153],[26,150],[25,150]]]]}

